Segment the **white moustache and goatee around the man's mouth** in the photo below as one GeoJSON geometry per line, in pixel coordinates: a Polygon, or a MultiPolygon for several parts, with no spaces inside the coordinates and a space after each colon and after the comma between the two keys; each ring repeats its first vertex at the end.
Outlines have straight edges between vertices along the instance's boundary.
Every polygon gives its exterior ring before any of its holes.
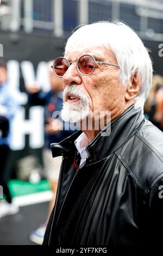
{"type": "Polygon", "coordinates": [[[70,123],[78,123],[87,117],[90,109],[89,98],[82,92],[82,90],[79,90],[79,86],[76,86],[75,84],[67,86],[64,89],[63,98],[64,104],[61,110],[62,120],[70,123]],[[65,101],[66,94],[68,93],[78,96],[80,101],[72,103],[65,101]]]}

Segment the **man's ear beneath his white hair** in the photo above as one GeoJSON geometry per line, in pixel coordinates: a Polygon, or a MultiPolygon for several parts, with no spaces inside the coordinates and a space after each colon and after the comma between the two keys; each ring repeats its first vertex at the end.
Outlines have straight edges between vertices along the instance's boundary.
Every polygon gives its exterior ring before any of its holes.
{"type": "Polygon", "coordinates": [[[130,77],[130,81],[127,85],[126,89],[126,100],[133,100],[137,94],[139,94],[141,87],[141,76],[137,79],[137,70],[134,74],[130,77]]]}

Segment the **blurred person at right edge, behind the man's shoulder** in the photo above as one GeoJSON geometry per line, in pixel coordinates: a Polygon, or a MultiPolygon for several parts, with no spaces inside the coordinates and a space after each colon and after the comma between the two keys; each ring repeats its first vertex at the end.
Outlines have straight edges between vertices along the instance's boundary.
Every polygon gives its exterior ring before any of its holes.
{"type": "Polygon", "coordinates": [[[146,118],[163,131],[163,77],[160,75],[153,76],[144,110],[146,118]]]}

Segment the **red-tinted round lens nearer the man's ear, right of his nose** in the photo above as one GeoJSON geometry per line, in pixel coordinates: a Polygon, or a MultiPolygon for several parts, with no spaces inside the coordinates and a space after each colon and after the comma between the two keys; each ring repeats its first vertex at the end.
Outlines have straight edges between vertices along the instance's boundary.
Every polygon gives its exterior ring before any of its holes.
{"type": "Polygon", "coordinates": [[[78,69],[83,75],[89,75],[95,69],[95,60],[89,56],[84,55],[78,60],[78,69]]]}

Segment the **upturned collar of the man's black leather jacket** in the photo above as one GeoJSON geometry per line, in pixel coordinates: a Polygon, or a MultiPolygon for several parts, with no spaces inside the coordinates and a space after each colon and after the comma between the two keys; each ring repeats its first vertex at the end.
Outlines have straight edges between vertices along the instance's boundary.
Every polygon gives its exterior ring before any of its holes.
{"type": "MultiPolygon", "coordinates": [[[[97,136],[86,146],[86,162],[97,162],[112,154],[134,135],[144,123],[144,120],[141,108],[135,109],[134,105],[131,105],[119,117],[99,131],[97,136]],[[108,130],[109,128],[111,129],[110,135],[103,136],[106,129],[108,130]]],[[[51,144],[53,157],[59,155],[74,157],[74,152],[76,151],[74,141],[81,133],[82,131],[78,131],[60,143],[51,144]]]]}

